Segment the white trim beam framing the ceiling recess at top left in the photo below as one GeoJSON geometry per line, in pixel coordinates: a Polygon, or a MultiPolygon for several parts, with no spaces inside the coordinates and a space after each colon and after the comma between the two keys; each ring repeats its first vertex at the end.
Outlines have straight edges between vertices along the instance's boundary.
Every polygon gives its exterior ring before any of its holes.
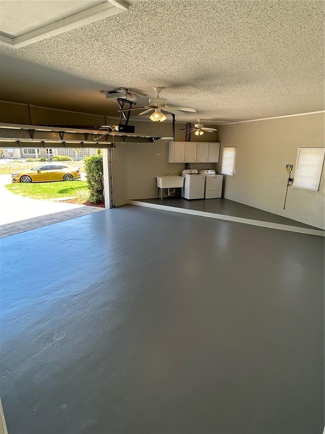
{"type": "Polygon", "coordinates": [[[64,32],[69,32],[75,28],[81,27],[92,22],[99,21],[104,18],[111,17],[128,10],[128,6],[119,0],[105,0],[100,5],[88,8],[85,11],[62,18],[51,24],[47,24],[24,35],[15,38],[0,35],[0,44],[14,48],[21,48],[43,39],[51,38],[52,36],[60,35],[64,32]]]}

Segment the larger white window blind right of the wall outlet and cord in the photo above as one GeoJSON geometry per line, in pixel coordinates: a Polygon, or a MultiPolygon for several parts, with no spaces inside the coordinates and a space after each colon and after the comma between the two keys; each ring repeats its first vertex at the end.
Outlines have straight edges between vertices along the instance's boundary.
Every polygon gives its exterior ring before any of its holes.
{"type": "Polygon", "coordinates": [[[298,148],[293,187],[317,191],[325,148],[298,148]]]}

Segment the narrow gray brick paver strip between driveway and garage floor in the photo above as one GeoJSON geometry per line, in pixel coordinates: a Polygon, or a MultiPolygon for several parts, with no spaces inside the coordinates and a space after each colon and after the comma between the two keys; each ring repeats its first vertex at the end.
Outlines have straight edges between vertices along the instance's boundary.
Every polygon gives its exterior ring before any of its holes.
{"type": "Polygon", "coordinates": [[[37,229],[38,227],[47,226],[49,224],[58,223],[59,221],[70,220],[71,218],[80,217],[83,215],[104,211],[100,207],[79,207],[73,210],[60,211],[44,216],[29,218],[26,220],[14,221],[12,223],[0,225],[0,238],[9,237],[10,235],[20,234],[26,230],[37,229]]]}

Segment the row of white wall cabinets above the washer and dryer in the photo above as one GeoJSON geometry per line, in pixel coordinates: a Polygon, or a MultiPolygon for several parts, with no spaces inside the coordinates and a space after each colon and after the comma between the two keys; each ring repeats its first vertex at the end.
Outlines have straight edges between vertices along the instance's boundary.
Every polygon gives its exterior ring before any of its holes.
{"type": "Polygon", "coordinates": [[[170,141],[170,163],[217,163],[220,143],[202,141],[170,141]]]}

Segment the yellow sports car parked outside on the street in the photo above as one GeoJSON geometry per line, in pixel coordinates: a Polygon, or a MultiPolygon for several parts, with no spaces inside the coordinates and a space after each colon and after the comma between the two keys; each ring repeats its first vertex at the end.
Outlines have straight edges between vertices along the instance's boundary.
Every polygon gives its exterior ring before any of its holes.
{"type": "Polygon", "coordinates": [[[47,163],[29,170],[17,170],[11,174],[12,182],[72,181],[80,178],[79,167],[47,163]]]}

